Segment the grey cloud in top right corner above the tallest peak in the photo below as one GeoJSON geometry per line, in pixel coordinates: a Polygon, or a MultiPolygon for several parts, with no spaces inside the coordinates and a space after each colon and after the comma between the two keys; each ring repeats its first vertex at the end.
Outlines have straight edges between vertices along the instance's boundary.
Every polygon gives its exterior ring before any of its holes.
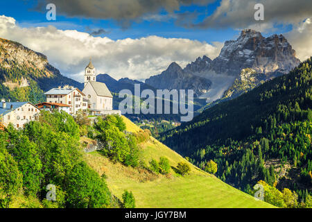
{"type": "Polygon", "coordinates": [[[189,24],[197,28],[246,28],[262,24],[272,28],[275,24],[297,24],[311,17],[312,1],[308,0],[222,0],[212,15],[199,24],[189,24]],[[254,19],[254,6],[264,6],[264,21],[254,19]]]}

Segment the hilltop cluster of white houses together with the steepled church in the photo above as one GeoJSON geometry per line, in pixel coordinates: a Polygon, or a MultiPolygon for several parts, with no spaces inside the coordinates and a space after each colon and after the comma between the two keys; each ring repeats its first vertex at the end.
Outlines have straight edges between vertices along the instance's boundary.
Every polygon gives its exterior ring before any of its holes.
{"type": "Polygon", "coordinates": [[[105,83],[96,82],[96,68],[90,60],[85,67],[85,86],[83,91],[77,87],[64,85],[50,89],[45,93],[46,101],[32,104],[31,102],[10,102],[1,99],[0,128],[12,123],[15,128],[22,128],[28,121],[37,120],[40,110],[58,110],[71,115],[79,111],[89,115],[119,114],[113,110],[113,96],[105,83]]]}

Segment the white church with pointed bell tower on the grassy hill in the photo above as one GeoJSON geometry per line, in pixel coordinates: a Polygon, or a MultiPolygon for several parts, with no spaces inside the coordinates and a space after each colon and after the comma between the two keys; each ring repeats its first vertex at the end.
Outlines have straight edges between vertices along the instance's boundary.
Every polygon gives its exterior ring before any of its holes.
{"type": "Polygon", "coordinates": [[[85,67],[85,99],[88,101],[88,110],[92,114],[120,114],[113,110],[113,96],[105,83],[96,82],[96,68],[90,60],[85,67]]]}

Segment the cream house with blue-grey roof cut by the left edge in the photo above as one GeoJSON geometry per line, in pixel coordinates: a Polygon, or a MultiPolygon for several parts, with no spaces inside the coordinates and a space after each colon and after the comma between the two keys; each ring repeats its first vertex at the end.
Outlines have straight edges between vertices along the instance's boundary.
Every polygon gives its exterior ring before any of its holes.
{"type": "Polygon", "coordinates": [[[6,102],[0,103],[0,123],[8,126],[12,123],[15,128],[24,127],[28,121],[36,120],[40,114],[40,109],[29,102],[6,102]]]}

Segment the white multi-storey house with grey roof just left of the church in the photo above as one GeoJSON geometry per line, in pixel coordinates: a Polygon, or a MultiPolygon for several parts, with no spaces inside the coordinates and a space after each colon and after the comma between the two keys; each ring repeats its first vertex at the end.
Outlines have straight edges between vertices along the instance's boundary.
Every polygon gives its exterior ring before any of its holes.
{"type": "Polygon", "coordinates": [[[77,114],[78,110],[87,110],[87,101],[84,101],[85,94],[78,88],[65,85],[53,88],[45,95],[47,103],[69,105],[69,114],[77,114]]]}

